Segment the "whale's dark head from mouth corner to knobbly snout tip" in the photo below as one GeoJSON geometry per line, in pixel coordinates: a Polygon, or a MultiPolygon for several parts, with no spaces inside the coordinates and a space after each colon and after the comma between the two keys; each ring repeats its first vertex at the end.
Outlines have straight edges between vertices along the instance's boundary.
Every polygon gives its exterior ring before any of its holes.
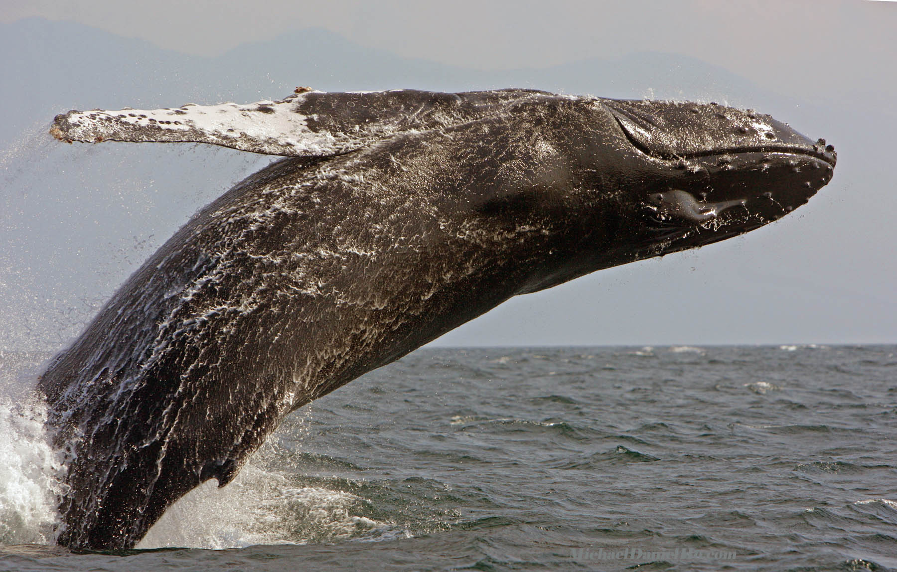
{"type": "MultiPolygon", "coordinates": [[[[642,221],[636,257],[701,247],[776,221],[831,179],[832,145],[753,110],[716,103],[600,100],[613,119],[624,212],[642,221]]],[[[607,142],[605,142],[607,144],[607,142]]]]}

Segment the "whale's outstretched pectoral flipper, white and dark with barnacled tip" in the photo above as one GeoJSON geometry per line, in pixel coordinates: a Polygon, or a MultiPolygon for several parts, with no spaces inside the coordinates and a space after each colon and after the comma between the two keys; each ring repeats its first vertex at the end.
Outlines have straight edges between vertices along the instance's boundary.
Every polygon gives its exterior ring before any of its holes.
{"type": "Polygon", "coordinates": [[[557,96],[532,90],[303,91],[248,104],[72,110],[56,117],[50,134],[68,143],[211,143],[266,155],[328,156],[404,131],[457,126],[534,97],[557,96]]]}

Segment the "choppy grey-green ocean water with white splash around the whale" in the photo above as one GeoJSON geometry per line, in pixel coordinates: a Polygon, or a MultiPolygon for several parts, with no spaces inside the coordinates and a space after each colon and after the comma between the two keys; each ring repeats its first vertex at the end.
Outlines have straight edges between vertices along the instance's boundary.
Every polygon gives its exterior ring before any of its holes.
{"type": "Polygon", "coordinates": [[[0,356],[0,570],[897,568],[897,346],[425,348],[117,553],[52,544],[47,357],[0,356]]]}

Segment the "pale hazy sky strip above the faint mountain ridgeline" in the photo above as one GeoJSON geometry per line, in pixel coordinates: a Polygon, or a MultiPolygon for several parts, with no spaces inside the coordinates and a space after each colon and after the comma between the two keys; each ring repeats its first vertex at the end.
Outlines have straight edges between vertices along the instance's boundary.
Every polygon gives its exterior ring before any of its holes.
{"type": "Polygon", "coordinates": [[[848,0],[3,0],[0,20],[73,20],[205,56],[312,26],[462,67],[539,67],[632,51],[700,57],[806,96],[897,79],[897,3],[848,0]]]}

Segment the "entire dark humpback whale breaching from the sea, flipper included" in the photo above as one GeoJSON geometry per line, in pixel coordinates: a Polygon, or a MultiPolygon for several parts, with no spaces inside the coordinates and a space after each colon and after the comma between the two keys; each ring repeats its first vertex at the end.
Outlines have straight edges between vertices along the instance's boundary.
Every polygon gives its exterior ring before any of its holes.
{"type": "Polygon", "coordinates": [[[752,110],[297,88],[57,116],[65,142],[283,156],[197,212],[39,379],[57,542],[123,549],[302,405],[518,294],[776,221],[835,153],[752,110]]]}

